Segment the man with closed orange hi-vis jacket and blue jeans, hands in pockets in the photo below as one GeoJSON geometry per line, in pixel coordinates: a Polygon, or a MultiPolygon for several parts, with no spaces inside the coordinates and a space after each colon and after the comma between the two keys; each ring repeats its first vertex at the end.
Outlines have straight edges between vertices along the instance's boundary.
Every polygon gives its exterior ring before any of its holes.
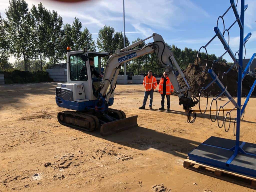
{"type": "Polygon", "coordinates": [[[150,96],[149,108],[152,109],[153,93],[154,89],[157,87],[156,78],[152,75],[152,71],[148,71],[148,75],[144,77],[143,86],[145,87],[144,99],[142,107],[139,107],[139,109],[145,109],[148,95],[150,96]]]}

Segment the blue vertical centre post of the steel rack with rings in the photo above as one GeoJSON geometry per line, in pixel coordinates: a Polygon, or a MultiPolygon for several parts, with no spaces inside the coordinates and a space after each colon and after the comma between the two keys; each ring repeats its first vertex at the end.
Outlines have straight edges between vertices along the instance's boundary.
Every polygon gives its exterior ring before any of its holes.
{"type": "MultiPolygon", "coordinates": [[[[243,66],[243,31],[244,31],[244,0],[241,0],[241,14],[240,19],[242,26],[240,27],[240,46],[239,46],[239,63],[243,66]]],[[[238,68],[238,88],[237,88],[237,134],[236,134],[236,147],[234,155],[238,154],[239,141],[240,141],[240,119],[241,119],[241,93],[242,93],[242,68],[238,68]]]]}

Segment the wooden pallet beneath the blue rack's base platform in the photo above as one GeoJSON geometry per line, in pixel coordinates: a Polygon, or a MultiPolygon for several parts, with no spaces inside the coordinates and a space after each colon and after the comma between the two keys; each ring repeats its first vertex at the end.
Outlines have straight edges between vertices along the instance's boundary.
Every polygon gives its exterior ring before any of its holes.
{"type": "Polygon", "coordinates": [[[206,164],[198,163],[190,159],[184,159],[183,166],[187,169],[194,170],[198,173],[202,173],[211,177],[215,177],[221,180],[228,181],[237,185],[242,185],[252,189],[256,189],[256,178],[247,175],[227,171],[225,169],[219,169],[206,164]]]}

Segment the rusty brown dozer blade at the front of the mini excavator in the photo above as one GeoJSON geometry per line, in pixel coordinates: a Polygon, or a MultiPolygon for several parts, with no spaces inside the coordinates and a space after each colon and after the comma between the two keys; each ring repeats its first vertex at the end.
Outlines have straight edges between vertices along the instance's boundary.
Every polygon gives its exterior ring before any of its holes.
{"type": "Polygon", "coordinates": [[[116,121],[111,121],[109,123],[101,124],[100,134],[102,136],[107,136],[107,135],[111,135],[116,132],[130,129],[132,127],[136,127],[136,126],[138,126],[137,118],[138,118],[138,115],[135,115],[132,117],[128,117],[128,118],[124,118],[124,119],[120,119],[120,120],[116,120],[116,121]]]}

